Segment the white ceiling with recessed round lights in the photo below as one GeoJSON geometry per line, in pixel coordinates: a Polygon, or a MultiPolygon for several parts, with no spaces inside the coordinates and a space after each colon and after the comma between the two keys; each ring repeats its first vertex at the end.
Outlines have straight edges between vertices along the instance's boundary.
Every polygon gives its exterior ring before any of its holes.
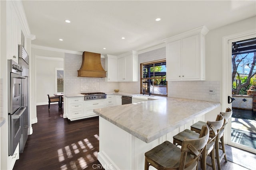
{"type": "Polygon", "coordinates": [[[32,44],[102,55],[141,51],[202,25],[211,30],[256,16],[255,0],[22,0],[22,4],[36,35],[32,44]]]}

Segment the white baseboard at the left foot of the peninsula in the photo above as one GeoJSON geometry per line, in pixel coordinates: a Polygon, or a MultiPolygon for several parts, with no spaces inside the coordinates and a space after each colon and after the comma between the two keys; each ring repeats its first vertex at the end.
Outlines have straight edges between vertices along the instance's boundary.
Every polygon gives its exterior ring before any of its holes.
{"type": "Polygon", "coordinates": [[[105,170],[120,170],[104,151],[98,152],[98,161],[105,170]]]}

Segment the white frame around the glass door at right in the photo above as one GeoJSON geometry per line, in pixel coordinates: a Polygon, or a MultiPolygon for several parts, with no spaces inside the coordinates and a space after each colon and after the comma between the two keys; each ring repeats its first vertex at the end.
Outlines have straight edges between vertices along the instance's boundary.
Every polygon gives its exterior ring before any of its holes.
{"type": "MultiPolygon", "coordinates": [[[[256,37],[256,29],[228,35],[222,38],[222,110],[226,110],[227,107],[232,108],[232,103],[228,104],[228,96],[232,96],[232,42],[249,39],[252,37],[256,37]]],[[[255,149],[231,142],[231,121],[229,121],[228,126],[225,129],[225,133],[226,135],[224,137],[226,144],[256,153],[255,149]]]]}

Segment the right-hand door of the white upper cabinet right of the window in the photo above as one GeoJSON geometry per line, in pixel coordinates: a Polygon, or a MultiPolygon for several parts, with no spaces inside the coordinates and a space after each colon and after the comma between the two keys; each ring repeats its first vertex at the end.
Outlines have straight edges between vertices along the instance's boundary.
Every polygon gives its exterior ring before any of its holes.
{"type": "Polygon", "coordinates": [[[200,78],[199,35],[182,39],[182,79],[200,78]]]}

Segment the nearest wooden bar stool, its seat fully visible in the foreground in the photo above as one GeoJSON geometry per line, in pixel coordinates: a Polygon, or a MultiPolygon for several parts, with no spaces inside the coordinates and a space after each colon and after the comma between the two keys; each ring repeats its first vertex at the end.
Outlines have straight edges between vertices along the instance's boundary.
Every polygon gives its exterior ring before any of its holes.
{"type": "Polygon", "coordinates": [[[209,128],[204,125],[199,138],[185,139],[181,149],[165,141],[145,153],[144,169],[148,170],[149,166],[154,166],[158,170],[195,170],[208,138],[209,128]]]}

